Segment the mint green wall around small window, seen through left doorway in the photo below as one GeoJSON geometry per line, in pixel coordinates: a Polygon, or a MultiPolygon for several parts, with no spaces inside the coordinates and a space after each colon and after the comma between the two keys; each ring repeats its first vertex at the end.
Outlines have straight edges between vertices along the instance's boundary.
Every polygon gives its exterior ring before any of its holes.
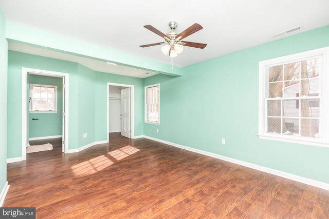
{"type": "Polygon", "coordinates": [[[57,113],[29,113],[29,138],[62,135],[63,79],[30,74],[29,81],[30,84],[57,86],[57,113]]]}

